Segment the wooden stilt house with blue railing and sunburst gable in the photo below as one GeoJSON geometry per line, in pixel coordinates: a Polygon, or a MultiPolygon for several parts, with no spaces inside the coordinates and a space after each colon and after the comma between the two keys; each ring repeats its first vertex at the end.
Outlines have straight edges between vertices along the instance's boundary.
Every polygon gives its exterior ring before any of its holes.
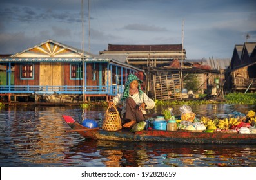
{"type": "Polygon", "coordinates": [[[111,58],[96,57],[54,40],[0,58],[6,69],[1,96],[26,96],[35,102],[83,102],[88,97],[121,93],[129,73],[141,69],[111,58]],[[14,76],[14,83],[11,77],[14,76]]]}

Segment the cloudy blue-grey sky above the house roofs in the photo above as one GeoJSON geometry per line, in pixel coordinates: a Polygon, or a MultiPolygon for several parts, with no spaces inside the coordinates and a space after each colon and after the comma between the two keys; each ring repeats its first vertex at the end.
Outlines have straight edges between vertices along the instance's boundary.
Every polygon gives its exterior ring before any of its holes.
{"type": "Polygon", "coordinates": [[[221,59],[235,44],[256,42],[255,0],[1,0],[0,19],[0,54],[48,39],[78,49],[84,42],[94,54],[108,44],[183,41],[187,59],[221,59]]]}

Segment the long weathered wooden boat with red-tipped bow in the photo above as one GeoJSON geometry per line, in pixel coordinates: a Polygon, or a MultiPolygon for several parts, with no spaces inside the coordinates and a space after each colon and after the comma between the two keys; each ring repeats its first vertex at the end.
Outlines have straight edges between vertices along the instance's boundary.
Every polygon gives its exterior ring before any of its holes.
{"type": "Polygon", "coordinates": [[[78,132],[84,138],[111,141],[158,141],[170,143],[212,143],[212,144],[251,144],[256,145],[256,134],[238,133],[207,133],[192,131],[163,131],[143,130],[130,132],[127,129],[119,131],[104,131],[99,128],[89,129],[75,121],[71,116],[63,115],[64,120],[72,130],[67,132],[78,132]]]}

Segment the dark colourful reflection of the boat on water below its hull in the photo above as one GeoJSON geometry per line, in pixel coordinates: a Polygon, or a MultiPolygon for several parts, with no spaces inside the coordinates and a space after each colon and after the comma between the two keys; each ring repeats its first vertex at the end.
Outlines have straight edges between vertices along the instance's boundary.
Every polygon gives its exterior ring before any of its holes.
{"type": "Polygon", "coordinates": [[[84,140],[66,153],[63,163],[75,159],[83,167],[255,167],[255,155],[253,146],[84,140]]]}

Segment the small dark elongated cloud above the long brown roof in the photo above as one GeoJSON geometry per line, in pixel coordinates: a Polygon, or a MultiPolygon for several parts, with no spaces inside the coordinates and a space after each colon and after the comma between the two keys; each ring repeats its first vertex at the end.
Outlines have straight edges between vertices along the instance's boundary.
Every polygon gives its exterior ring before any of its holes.
{"type": "Polygon", "coordinates": [[[123,29],[136,30],[136,31],[168,31],[166,28],[161,28],[154,25],[146,25],[146,24],[128,24],[124,26],[123,29]]]}

